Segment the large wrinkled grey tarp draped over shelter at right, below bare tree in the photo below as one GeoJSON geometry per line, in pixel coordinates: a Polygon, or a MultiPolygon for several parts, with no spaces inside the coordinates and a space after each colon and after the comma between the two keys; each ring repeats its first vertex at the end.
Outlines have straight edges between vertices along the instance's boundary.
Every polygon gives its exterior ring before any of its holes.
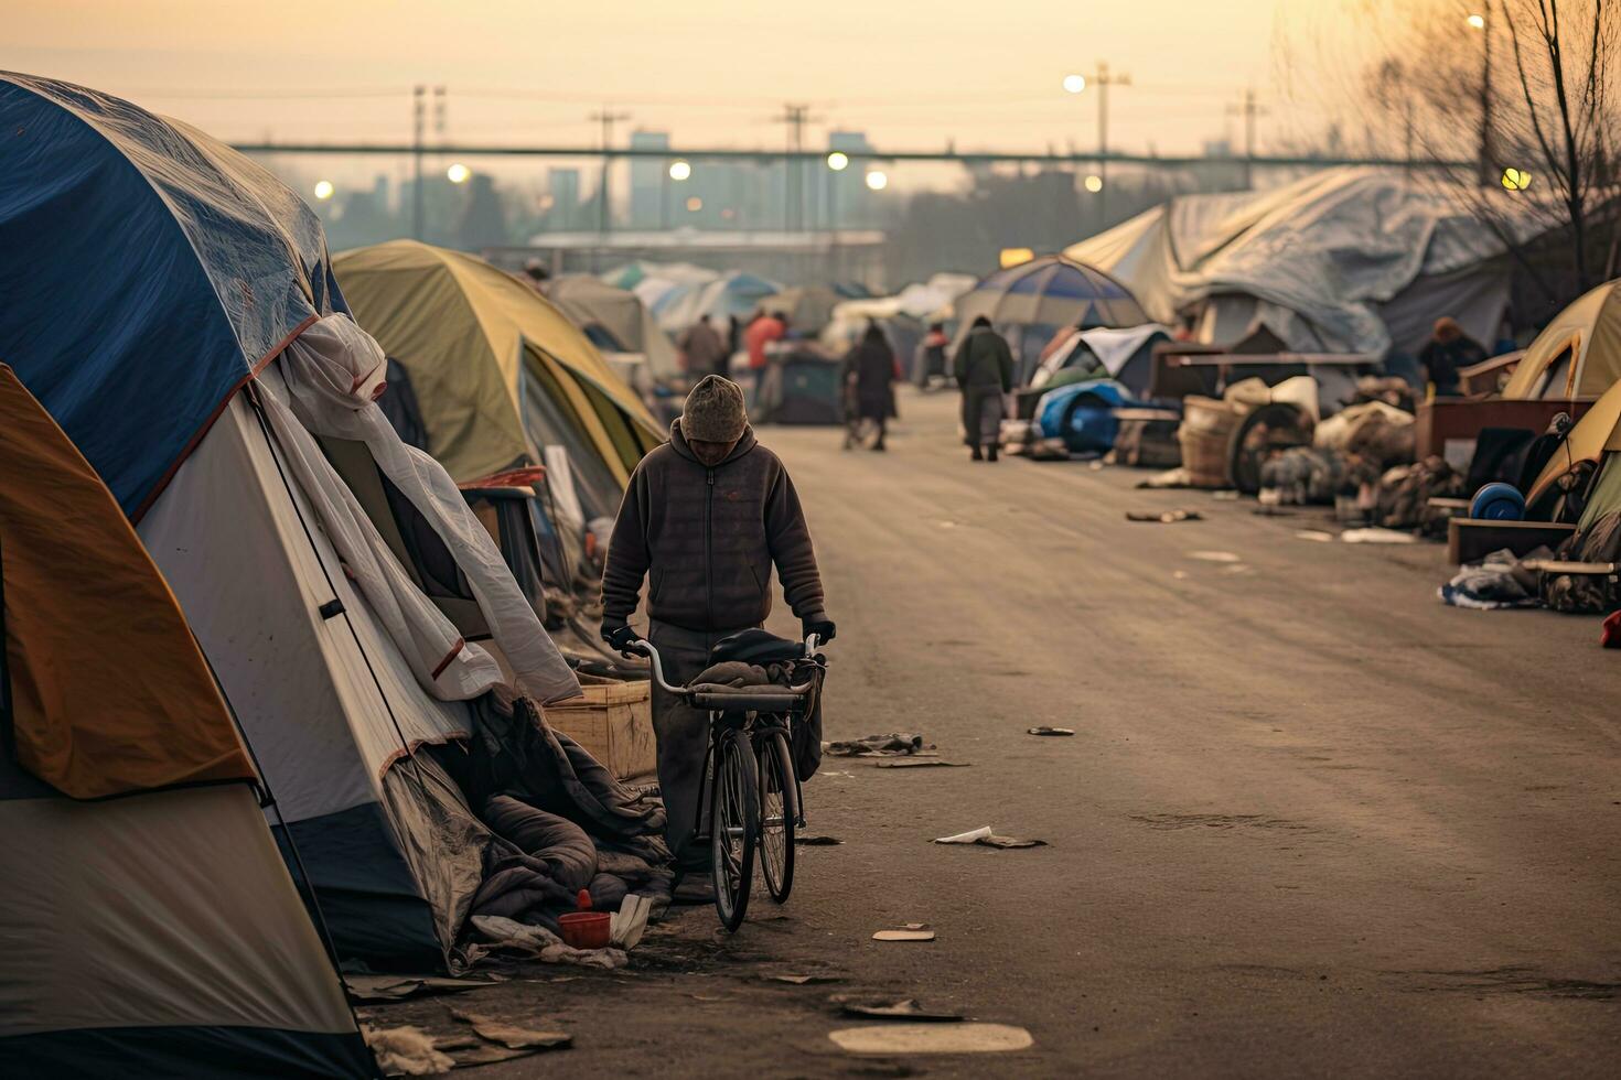
{"type": "Polygon", "coordinates": [[[1162,322],[1200,311],[1196,334],[1214,345],[1261,322],[1297,351],[1417,353],[1439,316],[1491,342],[1509,301],[1503,243],[1464,198],[1394,170],[1178,196],[1065,254],[1118,277],[1162,322]]]}

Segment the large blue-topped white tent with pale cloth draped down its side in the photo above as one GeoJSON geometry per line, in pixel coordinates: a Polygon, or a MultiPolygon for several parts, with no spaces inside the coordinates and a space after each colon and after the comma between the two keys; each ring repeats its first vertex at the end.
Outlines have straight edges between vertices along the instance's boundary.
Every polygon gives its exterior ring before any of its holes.
{"type": "Polygon", "coordinates": [[[0,355],[138,523],[339,957],[447,968],[496,837],[421,748],[467,738],[498,687],[545,704],[579,683],[454,483],[378,410],[386,361],[297,196],[62,83],[0,78],[0,117],[29,142],[0,172],[0,355]],[[425,520],[485,643],[417,585],[323,439],[425,520]]]}

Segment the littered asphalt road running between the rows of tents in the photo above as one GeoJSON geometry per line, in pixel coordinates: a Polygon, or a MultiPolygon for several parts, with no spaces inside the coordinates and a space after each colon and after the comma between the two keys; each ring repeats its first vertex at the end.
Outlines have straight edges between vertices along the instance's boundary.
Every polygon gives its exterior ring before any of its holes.
{"type": "Polygon", "coordinates": [[[760,895],[728,939],[692,908],[627,975],[464,996],[575,1036],[488,1075],[1613,1075],[1621,657],[1597,620],[1443,607],[1438,547],[1297,539],[1318,510],[969,463],[953,408],[905,398],[887,455],[762,440],[840,625],[827,737],[914,730],[969,767],[828,759],[810,831],[843,845],[801,848],[786,918],[760,895]],[[1125,521],[1170,507],[1206,520],[1125,521]],[[982,824],[1049,847],[929,842],[982,824]],[[939,939],[870,941],[905,921],[939,939]],[[1034,1046],[848,1056],[841,994],[1034,1046]]]}

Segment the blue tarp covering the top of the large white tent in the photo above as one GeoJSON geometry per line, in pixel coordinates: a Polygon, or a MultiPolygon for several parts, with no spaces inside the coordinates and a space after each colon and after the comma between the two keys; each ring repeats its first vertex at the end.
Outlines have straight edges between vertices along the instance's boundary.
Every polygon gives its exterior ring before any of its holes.
{"type": "Polygon", "coordinates": [[[138,515],[232,392],[345,311],[259,165],[96,91],[0,73],[0,361],[138,515]]]}

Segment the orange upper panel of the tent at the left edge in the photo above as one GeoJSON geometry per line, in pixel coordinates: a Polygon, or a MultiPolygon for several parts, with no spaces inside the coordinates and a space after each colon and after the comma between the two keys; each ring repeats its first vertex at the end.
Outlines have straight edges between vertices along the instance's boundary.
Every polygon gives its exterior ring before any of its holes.
{"type": "Polygon", "coordinates": [[[24,769],[73,798],[254,779],[162,573],[96,470],[5,364],[0,575],[24,769]]]}

